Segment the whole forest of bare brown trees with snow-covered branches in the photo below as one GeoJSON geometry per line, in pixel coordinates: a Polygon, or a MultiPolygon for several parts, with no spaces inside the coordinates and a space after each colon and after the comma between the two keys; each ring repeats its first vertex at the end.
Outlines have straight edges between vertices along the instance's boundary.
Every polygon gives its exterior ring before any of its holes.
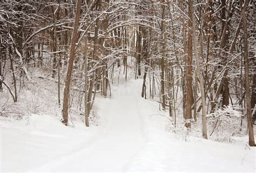
{"type": "Polygon", "coordinates": [[[42,73],[56,82],[62,122],[76,107],[89,127],[119,71],[143,79],[141,96],[173,127],[199,126],[208,139],[228,121],[255,146],[255,1],[3,0],[0,18],[1,100],[23,102],[21,88],[42,73]]]}

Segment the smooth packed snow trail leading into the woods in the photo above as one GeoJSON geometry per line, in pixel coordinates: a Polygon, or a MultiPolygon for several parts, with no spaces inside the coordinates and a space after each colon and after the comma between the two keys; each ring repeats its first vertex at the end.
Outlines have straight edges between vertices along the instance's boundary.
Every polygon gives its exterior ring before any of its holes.
{"type": "Polygon", "coordinates": [[[44,165],[39,170],[51,171],[123,171],[127,163],[145,146],[144,123],[138,98],[116,95],[99,104],[102,129],[93,144],[63,160],[44,165]],[[72,163],[72,165],[70,165],[72,163]],[[85,169],[86,168],[86,169],[85,169]]]}

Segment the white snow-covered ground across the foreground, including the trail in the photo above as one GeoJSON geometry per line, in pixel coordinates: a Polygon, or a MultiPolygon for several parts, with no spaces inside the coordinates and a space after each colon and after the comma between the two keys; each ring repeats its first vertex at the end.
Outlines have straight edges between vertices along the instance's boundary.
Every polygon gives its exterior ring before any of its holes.
{"type": "Polygon", "coordinates": [[[59,116],[1,121],[1,172],[255,172],[255,148],[166,131],[159,104],[140,97],[142,80],[98,98],[99,126],[66,127],[59,116]]]}

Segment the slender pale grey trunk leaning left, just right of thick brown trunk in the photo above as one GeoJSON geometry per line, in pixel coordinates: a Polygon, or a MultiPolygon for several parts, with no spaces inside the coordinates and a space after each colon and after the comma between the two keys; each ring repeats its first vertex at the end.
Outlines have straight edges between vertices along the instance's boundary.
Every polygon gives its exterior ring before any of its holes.
{"type": "MultiPolygon", "coordinates": [[[[192,0],[188,0],[188,4],[189,4],[188,6],[190,6],[190,8],[191,8],[192,14],[194,14],[192,0]]],[[[194,47],[194,53],[196,55],[196,63],[197,63],[196,70],[197,70],[197,75],[199,77],[201,100],[202,100],[203,137],[204,137],[204,139],[207,139],[204,79],[203,79],[203,75],[201,74],[201,70],[200,70],[200,60],[199,60],[199,56],[198,56],[197,39],[196,39],[196,22],[194,19],[194,15],[192,15],[192,29],[193,29],[193,47],[194,47]]]]}

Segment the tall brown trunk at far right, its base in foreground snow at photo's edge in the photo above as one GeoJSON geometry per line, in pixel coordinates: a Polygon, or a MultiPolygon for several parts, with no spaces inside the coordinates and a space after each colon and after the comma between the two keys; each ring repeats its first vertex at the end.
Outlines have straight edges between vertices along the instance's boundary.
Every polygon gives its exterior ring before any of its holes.
{"type": "Polygon", "coordinates": [[[245,96],[246,96],[246,112],[247,112],[247,122],[248,122],[248,132],[249,132],[249,145],[255,146],[254,134],[253,134],[253,124],[252,124],[252,112],[250,103],[250,79],[249,79],[249,54],[248,54],[248,31],[245,9],[248,1],[242,3],[240,0],[241,16],[242,16],[242,29],[244,30],[244,66],[245,66],[245,96]]]}

